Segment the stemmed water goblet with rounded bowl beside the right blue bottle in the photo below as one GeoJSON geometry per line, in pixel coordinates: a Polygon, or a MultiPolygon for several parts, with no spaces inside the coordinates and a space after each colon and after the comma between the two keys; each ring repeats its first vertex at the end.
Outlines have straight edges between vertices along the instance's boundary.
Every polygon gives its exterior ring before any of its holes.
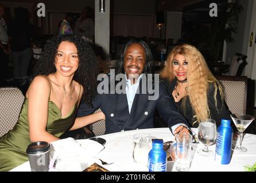
{"type": "Polygon", "coordinates": [[[208,146],[214,144],[216,140],[216,122],[212,119],[201,120],[198,127],[198,139],[204,144],[204,148],[198,149],[197,152],[203,156],[212,156],[211,150],[208,146]]]}

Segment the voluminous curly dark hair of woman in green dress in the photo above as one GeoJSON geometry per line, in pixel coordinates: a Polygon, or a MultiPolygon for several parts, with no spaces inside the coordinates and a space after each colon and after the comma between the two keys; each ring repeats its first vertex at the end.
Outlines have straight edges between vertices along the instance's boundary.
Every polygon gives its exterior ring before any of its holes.
{"type": "Polygon", "coordinates": [[[83,39],[72,35],[61,35],[50,39],[44,46],[39,61],[36,62],[33,77],[56,72],[55,55],[57,48],[63,41],[72,42],[76,46],[79,57],[79,67],[73,79],[79,82],[84,88],[82,101],[91,105],[92,98],[96,96],[98,69],[96,67],[94,51],[83,39]]]}

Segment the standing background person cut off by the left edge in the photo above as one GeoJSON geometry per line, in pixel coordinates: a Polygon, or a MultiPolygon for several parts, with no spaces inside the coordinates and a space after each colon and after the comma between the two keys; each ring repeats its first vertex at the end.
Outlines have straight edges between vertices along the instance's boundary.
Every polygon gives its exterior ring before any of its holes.
{"type": "Polygon", "coordinates": [[[5,84],[8,78],[8,54],[11,53],[9,46],[9,37],[7,34],[7,25],[3,15],[5,14],[5,6],[0,4],[0,84],[5,84]]]}

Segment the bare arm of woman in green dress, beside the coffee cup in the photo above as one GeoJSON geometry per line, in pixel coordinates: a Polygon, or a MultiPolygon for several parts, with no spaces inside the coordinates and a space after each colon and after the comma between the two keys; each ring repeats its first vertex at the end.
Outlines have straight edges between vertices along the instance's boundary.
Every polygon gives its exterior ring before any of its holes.
{"type": "Polygon", "coordinates": [[[44,76],[37,76],[29,86],[26,97],[28,97],[28,121],[30,141],[52,141],[59,140],[46,131],[48,121],[48,101],[51,93],[49,81],[44,76]]]}

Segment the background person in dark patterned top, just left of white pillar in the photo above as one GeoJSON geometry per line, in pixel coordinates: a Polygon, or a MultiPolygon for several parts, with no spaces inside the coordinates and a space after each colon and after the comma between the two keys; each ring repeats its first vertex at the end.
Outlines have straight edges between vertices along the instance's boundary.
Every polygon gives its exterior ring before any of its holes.
{"type": "Polygon", "coordinates": [[[80,18],[75,22],[74,35],[94,43],[94,10],[91,7],[84,7],[80,18]]]}

